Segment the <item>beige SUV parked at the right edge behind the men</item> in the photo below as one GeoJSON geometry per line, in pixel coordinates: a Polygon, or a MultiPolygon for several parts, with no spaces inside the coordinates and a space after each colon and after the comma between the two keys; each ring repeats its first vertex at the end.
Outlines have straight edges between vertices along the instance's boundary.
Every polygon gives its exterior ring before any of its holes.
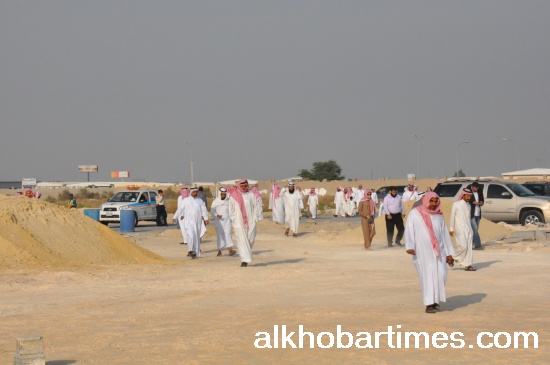
{"type": "MultiPolygon", "coordinates": [[[[452,180],[437,184],[434,191],[444,199],[456,200],[473,180],[452,180]]],[[[525,186],[495,180],[478,180],[485,204],[481,216],[493,222],[536,224],[550,222],[550,199],[537,196],[525,186]]]]}

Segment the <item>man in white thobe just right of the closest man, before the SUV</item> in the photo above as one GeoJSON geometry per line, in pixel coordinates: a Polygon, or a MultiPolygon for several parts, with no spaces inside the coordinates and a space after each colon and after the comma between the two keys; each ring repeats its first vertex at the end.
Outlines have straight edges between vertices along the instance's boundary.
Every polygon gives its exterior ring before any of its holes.
{"type": "Polygon", "coordinates": [[[462,189],[458,200],[451,207],[451,219],[449,221],[449,234],[454,236],[456,242],[456,252],[453,255],[455,262],[464,267],[466,271],[476,271],[472,267],[474,261],[474,231],[472,230],[472,222],[470,213],[470,199],[472,191],[470,189],[462,189]]]}

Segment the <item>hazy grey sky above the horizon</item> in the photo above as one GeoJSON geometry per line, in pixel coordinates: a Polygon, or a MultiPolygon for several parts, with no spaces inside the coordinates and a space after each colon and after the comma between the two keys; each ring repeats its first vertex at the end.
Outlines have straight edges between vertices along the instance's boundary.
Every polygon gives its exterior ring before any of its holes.
{"type": "Polygon", "coordinates": [[[0,180],[550,168],[550,1],[0,0],[0,180]],[[508,138],[514,142],[502,141],[508,138]],[[468,140],[468,144],[457,146],[468,140]]]}

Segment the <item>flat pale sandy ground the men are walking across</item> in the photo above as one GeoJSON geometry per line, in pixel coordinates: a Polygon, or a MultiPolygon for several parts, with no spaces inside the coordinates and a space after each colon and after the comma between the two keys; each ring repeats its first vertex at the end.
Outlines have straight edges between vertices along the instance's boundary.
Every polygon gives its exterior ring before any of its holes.
{"type": "Polygon", "coordinates": [[[548,242],[475,251],[478,271],[451,269],[447,302],[426,314],[411,257],[386,248],[381,235],[364,250],[350,234],[356,227],[310,221],[298,238],[287,238],[263,221],[247,268],[237,256],[216,257],[212,228],[198,260],[185,256],[170,228],[128,236],[164,263],[2,270],[0,364],[12,363],[18,336],[35,333],[44,336],[49,365],[548,363],[548,242]],[[274,325],[315,334],[336,334],[337,325],[354,335],[397,325],[460,331],[467,345],[392,349],[386,340],[379,349],[256,349],[256,333],[273,334],[274,325]],[[482,331],[534,331],[539,348],[480,349],[482,331]]]}

